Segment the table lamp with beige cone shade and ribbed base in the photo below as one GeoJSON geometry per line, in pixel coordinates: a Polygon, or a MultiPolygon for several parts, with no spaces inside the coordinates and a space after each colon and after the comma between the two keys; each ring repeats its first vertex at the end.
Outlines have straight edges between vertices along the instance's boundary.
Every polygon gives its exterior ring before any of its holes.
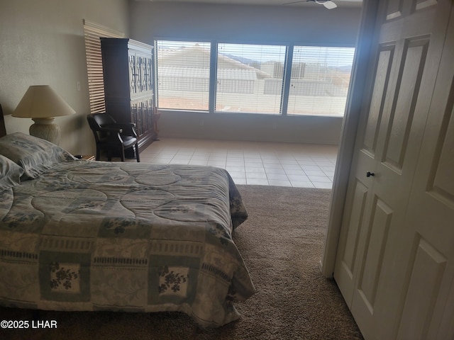
{"type": "Polygon", "coordinates": [[[60,142],[60,127],[53,123],[55,117],[76,113],[48,85],[30,86],[18,103],[12,116],[32,118],[35,122],[30,127],[30,135],[48,140],[58,145],[60,142]]]}

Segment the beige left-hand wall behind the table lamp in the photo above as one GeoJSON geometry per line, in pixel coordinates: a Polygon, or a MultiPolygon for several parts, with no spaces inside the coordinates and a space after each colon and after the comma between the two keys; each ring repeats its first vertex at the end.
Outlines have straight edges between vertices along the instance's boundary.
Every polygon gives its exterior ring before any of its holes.
{"type": "Polygon", "coordinates": [[[76,111],[56,118],[60,145],[74,154],[92,154],[84,30],[87,19],[128,33],[127,0],[1,0],[0,103],[6,132],[28,133],[28,118],[13,118],[28,86],[48,84],[76,111]],[[80,91],[77,91],[77,81],[80,91]]]}

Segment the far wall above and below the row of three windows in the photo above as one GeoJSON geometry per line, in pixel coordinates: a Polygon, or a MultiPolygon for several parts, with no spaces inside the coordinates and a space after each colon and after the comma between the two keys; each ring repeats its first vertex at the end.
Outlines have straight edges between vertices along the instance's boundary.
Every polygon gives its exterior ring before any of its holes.
{"type": "MultiPolygon", "coordinates": [[[[356,42],[360,9],[323,6],[233,6],[131,1],[131,38],[348,45],[356,42]]],[[[164,111],[160,137],[198,137],[337,144],[342,118],[276,117],[164,111]],[[203,125],[202,125],[203,121],[203,125]]]]}

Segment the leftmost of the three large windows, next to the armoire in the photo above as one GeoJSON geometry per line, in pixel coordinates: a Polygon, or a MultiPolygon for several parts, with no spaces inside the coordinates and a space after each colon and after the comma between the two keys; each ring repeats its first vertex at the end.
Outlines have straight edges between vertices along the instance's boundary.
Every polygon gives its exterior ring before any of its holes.
{"type": "Polygon", "coordinates": [[[158,40],[157,106],[182,110],[208,110],[209,42],[158,40]]]}

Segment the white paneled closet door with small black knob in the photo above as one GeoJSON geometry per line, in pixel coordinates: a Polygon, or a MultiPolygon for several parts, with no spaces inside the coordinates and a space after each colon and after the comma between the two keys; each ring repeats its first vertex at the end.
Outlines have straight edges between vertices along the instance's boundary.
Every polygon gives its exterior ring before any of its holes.
{"type": "MultiPolygon", "coordinates": [[[[436,269],[429,257],[444,263],[448,255],[410,227],[409,217],[431,211],[419,208],[416,188],[423,181],[422,165],[431,161],[423,158],[423,150],[433,154],[442,143],[426,141],[426,130],[441,114],[432,113],[431,103],[436,81],[441,81],[437,75],[453,2],[392,0],[380,1],[380,6],[370,96],[358,131],[334,278],[365,339],[424,339],[408,337],[410,329],[418,328],[412,323],[423,318],[414,317],[414,307],[436,304],[438,295],[423,302],[419,289],[435,289],[438,281],[416,282],[421,276],[440,275],[446,266],[436,269]],[[429,267],[433,272],[426,272],[429,267]]],[[[448,105],[448,98],[444,100],[448,105]]],[[[453,154],[448,156],[452,161],[453,154]]],[[[441,227],[441,239],[447,232],[443,228],[448,225],[441,227]]]]}

